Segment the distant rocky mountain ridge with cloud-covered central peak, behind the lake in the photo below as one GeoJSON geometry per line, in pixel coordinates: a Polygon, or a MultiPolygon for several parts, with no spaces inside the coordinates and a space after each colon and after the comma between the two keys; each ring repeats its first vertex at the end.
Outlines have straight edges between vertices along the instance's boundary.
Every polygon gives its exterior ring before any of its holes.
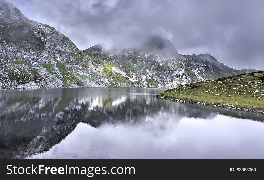
{"type": "MultiPolygon", "coordinates": [[[[135,78],[134,86],[178,86],[225,77],[255,69],[236,70],[218,62],[210,54],[181,55],[162,37],[152,37],[141,47],[105,50],[100,44],[83,51],[95,67],[113,66],[135,78]]],[[[115,76],[109,72],[109,76],[115,76]]]]}

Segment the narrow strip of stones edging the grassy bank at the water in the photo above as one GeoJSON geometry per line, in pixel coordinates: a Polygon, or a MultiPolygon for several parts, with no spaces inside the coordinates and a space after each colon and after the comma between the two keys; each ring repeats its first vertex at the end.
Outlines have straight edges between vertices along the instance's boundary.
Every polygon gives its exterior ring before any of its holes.
{"type": "Polygon", "coordinates": [[[259,113],[264,113],[264,110],[263,109],[256,109],[254,107],[252,108],[238,108],[238,107],[235,107],[234,105],[229,105],[228,103],[224,103],[224,104],[214,104],[214,103],[210,103],[210,104],[206,104],[204,102],[193,102],[193,101],[187,101],[187,100],[184,100],[184,99],[173,99],[173,98],[170,98],[169,96],[158,96],[156,95],[155,96],[156,98],[162,98],[162,99],[168,99],[168,100],[171,100],[171,101],[177,101],[177,102],[182,102],[182,103],[189,103],[189,104],[197,104],[197,105],[201,105],[201,106],[210,106],[210,107],[214,107],[214,108],[228,108],[228,109],[232,109],[232,110],[240,110],[240,111],[249,111],[249,112],[259,112],[259,113]]]}

